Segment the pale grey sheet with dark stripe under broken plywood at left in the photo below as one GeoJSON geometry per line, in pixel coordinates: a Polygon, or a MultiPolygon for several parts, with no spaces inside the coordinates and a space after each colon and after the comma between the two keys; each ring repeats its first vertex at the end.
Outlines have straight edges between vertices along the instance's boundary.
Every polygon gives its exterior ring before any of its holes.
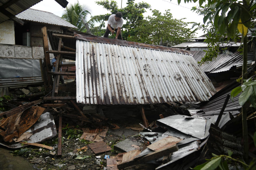
{"type": "MultiPolygon", "coordinates": [[[[49,113],[43,113],[39,117],[40,121],[37,121],[33,126],[30,127],[26,131],[26,133],[33,133],[28,143],[39,143],[54,137],[57,134],[55,122],[53,116],[49,113]]],[[[8,148],[21,148],[23,147],[21,143],[14,143],[14,144],[7,144],[7,143],[0,143],[0,145],[6,146],[8,148]]]]}

